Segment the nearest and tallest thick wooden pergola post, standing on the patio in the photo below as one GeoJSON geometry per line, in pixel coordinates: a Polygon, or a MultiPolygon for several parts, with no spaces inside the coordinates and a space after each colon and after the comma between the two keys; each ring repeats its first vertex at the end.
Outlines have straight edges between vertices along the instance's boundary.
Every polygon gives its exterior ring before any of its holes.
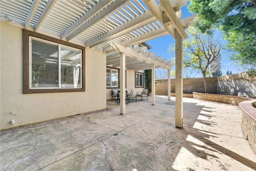
{"type": "Polygon", "coordinates": [[[182,55],[182,37],[175,29],[175,125],[183,126],[183,55],[182,55]]]}

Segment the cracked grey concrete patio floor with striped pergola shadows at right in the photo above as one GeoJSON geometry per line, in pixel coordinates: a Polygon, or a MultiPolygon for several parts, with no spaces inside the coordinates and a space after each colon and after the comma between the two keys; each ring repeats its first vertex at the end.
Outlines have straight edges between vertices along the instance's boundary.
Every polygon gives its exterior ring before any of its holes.
{"type": "Polygon", "coordinates": [[[1,171],[256,170],[237,106],[184,98],[175,127],[175,97],[156,105],[107,102],[107,109],[2,131],[1,171]]]}

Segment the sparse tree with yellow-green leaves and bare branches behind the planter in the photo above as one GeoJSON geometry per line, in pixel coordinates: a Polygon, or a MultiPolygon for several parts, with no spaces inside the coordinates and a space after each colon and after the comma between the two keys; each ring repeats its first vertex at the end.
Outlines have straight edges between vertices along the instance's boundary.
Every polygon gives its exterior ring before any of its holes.
{"type": "MultiPolygon", "coordinates": [[[[183,42],[183,65],[185,68],[192,68],[198,73],[202,73],[204,89],[207,93],[206,74],[209,74],[208,67],[220,61],[220,41],[214,38],[214,33],[202,33],[190,26],[188,38],[183,42]]],[[[171,53],[173,48],[170,49],[171,53]]],[[[212,65],[214,69],[214,65],[212,65]]],[[[215,70],[215,69],[214,69],[215,70]]]]}

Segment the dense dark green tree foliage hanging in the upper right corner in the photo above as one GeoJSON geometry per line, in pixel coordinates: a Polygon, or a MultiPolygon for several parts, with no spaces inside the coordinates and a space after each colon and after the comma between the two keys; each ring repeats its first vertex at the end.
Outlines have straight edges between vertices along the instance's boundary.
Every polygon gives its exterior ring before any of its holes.
{"type": "Polygon", "coordinates": [[[256,68],[256,0],[191,0],[188,9],[199,13],[194,24],[202,32],[219,26],[228,40],[231,60],[256,68]]]}

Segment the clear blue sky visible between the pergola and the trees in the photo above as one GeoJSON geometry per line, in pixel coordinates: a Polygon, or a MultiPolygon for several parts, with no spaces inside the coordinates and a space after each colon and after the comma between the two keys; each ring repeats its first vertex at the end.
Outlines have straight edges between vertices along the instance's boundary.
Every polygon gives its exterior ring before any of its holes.
{"type": "MultiPolygon", "coordinates": [[[[188,16],[191,16],[192,14],[188,12],[186,7],[182,8],[182,13],[183,13],[183,18],[186,18],[188,16]]],[[[226,41],[221,40],[222,42],[222,47],[225,46],[226,41]]],[[[161,55],[162,58],[166,58],[167,60],[170,60],[171,58],[174,58],[174,54],[169,54],[168,48],[170,44],[175,44],[174,38],[172,36],[167,35],[167,36],[162,36],[160,38],[156,38],[154,40],[147,41],[146,43],[150,44],[152,46],[152,49],[149,51],[154,51],[156,53],[156,56],[161,55]]],[[[223,75],[226,75],[227,70],[231,70],[232,74],[244,72],[242,67],[238,66],[237,64],[234,63],[234,61],[231,61],[229,59],[229,56],[231,56],[230,52],[227,52],[225,50],[221,50],[221,64],[222,64],[222,73],[223,75]]],[[[175,70],[175,68],[173,68],[175,70]]],[[[192,74],[190,73],[190,70],[188,72],[184,72],[183,77],[186,75],[190,77],[195,77],[199,78],[202,77],[202,74],[197,74],[196,72],[193,72],[192,74]]]]}

